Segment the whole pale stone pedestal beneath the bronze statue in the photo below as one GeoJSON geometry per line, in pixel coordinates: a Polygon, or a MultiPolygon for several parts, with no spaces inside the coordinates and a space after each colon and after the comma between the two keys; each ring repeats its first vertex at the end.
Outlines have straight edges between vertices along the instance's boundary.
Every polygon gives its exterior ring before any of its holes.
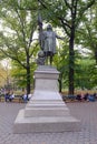
{"type": "Polygon", "coordinates": [[[51,66],[35,71],[35,92],[19,111],[13,133],[79,131],[80,122],[70,115],[58,92],[59,72],[51,66]]]}

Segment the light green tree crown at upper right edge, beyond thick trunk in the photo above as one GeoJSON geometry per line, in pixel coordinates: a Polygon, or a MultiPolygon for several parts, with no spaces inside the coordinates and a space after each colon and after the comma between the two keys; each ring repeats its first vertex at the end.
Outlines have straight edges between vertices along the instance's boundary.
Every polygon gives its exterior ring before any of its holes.
{"type": "Polygon", "coordinates": [[[76,41],[81,48],[89,50],[91,58],[97,64],[97,2],[86,12],[84,21],[78,30],[76,41]],[[81,40],[80,40],[81,39],[81,40]]]}

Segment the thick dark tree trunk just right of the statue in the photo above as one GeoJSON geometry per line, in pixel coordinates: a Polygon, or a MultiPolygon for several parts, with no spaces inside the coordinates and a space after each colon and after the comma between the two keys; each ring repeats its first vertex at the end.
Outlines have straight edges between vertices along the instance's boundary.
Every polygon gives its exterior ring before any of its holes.
{"type": "Polygon", "coordinates": [[[77,14],[78,0],[71,1],[71,27],[70,27],[70,40],[69,40],[69,94],[74,95],[74,72],[75,72],[75,51],[74,40],[76,30],[76,14],[77,14]]]}

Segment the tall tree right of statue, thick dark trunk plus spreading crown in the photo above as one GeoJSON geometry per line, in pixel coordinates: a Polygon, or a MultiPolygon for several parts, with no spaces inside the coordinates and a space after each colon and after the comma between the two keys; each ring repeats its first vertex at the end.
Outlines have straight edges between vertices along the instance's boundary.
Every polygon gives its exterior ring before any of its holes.
{"type": "Polygon", "coordinates": [[[74,94],[75,37],[83,14],[95,4],[95,0],[39,0],[47,12],[49,22],[61,27],[69,39],[69,94],[74,94]]]}

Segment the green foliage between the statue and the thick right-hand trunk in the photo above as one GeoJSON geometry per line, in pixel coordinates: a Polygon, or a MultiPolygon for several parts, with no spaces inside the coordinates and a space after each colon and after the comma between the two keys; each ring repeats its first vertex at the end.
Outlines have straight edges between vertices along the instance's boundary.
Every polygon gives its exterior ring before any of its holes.
{"type": "Polygon", "coordinates": [[[61,89],[68,86],[68,43],[65,40],[65,43],[60,44],[58,53],[54,58],[54,64],[60,72],[59,80],[61,81],[61,89]]]}

